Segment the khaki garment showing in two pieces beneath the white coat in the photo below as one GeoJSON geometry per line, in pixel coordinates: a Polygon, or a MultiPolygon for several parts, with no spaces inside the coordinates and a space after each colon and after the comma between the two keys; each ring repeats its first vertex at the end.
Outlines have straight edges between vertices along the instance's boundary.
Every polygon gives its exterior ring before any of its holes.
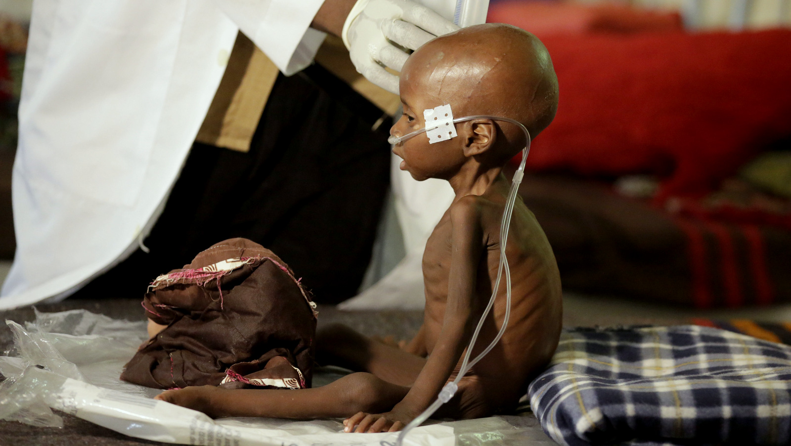
{"type": "MultiPolygon", "coordinates": [[[[327,36],[316,62],[345,81],[388,115],[395,115],[399,96],[381,89],[354,69],[349,52],[335,36],[327,36]]],[[[195,141],[248,152],[255,128],[267,105],[278,67],[241,32],[228,66],[195,141]]]]}

